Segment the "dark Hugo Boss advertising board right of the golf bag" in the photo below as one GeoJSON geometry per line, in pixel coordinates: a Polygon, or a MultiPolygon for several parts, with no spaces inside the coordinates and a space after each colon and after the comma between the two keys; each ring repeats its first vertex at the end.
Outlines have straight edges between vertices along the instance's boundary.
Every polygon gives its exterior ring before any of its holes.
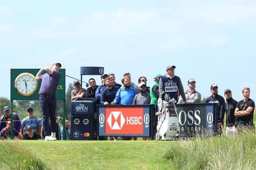
{"type": "Polygon", "coordinates": [[[216,104],[177,105],[180,136],[214,136],[217,115],[216,104]]]}

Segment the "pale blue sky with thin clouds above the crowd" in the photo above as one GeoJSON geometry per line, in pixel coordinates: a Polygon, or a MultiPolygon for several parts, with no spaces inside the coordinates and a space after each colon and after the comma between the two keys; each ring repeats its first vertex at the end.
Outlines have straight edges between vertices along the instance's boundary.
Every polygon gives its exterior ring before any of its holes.
{"type": "MultiPolygon", "coordinates": [[[[0,97],[10,99],[10,69],[40,69],[60,61],[66,75],[104,67],[116,82],[132,82],[176,65],[184,89],[196,80],[203,97],[216,83],[256,100],[255,0],[0,1],[0,97]]],[[[83,81],[99,75],[84,75],[83,81]]],[[[66,90],[74,79],[66,77],[66,90]]],[[[83,85],[85,87],[85,85],[83,85]]]]}

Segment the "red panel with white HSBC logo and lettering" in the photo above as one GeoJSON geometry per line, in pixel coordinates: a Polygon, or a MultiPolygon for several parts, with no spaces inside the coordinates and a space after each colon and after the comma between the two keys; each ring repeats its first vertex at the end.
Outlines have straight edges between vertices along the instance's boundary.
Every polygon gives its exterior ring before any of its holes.
{"type": "Polygon", "coordinates": [[[106,134],[143,134],[142,107],[107,107],[106,134]]]}

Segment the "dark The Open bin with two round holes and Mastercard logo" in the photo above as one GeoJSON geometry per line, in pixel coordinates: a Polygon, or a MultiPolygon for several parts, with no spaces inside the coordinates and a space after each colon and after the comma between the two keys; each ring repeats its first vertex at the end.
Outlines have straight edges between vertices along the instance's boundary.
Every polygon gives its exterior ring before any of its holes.
{"type": "Polygon", "coordinates": [[[97,98],[77,98],[71,102],[71,140],[97,139],[97,98]]]}

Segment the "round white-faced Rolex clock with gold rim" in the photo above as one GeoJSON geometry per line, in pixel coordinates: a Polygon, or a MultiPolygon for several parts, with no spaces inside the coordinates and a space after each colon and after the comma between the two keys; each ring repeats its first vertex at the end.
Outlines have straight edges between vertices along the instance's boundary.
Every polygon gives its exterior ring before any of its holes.
{"type": "Polygon", "coordinates": [[[21,73],[14,81],[14,88],[22,96],[30,96],[36,92],[38,83],[31,73],[21,73]]]}

